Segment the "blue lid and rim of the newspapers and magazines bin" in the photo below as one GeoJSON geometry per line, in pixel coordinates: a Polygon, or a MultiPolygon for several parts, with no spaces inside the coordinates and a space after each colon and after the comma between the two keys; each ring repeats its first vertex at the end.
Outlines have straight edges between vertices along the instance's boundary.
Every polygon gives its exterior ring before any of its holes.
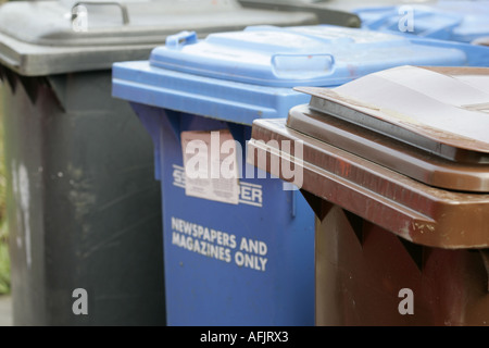
{"type": "Polygon", "coordinates": [[[335,87],[399,65],[484,66],[489,48],[331,25],[253,26],[205,39],[184,32],[149,61],[115,63],[113,96],[251,125],[308,102],[292,87],[335,87]]]}

